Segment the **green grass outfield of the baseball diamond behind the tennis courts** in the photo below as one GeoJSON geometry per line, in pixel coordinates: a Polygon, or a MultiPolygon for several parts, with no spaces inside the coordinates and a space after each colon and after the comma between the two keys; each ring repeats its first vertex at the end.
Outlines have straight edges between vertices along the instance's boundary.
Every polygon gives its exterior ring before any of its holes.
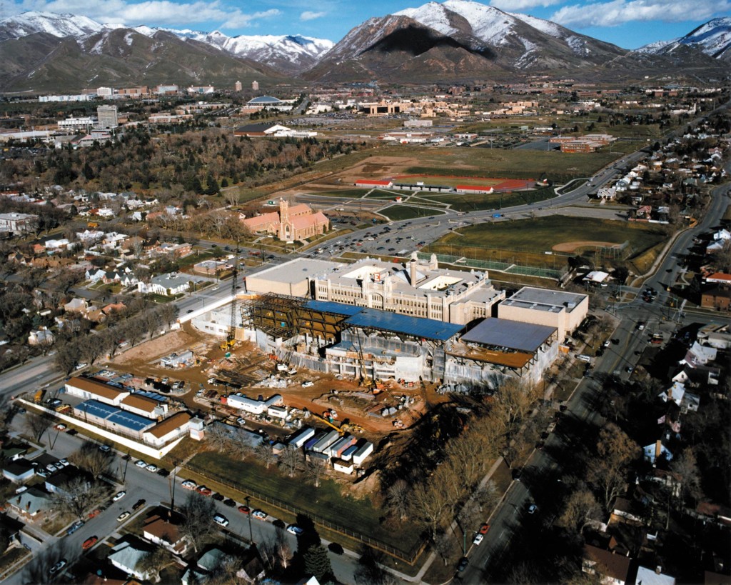
{"type": "Polygon", "coordinates": [[[632,254],[640,254],[664,241],[661,227],[588,217],[547,216],[514,222],[483,223],[463,227],[429,246],[458,249],[508,249],[543,254],[556,244],[599,241],[622,244],[629,241],[632,254]]]}

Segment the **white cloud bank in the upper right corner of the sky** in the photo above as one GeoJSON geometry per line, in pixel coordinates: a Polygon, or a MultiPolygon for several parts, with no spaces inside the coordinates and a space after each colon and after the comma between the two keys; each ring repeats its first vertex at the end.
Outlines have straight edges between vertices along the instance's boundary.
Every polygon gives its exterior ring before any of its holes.
{"type": "Polygon", "coordinates": [[[731,10],[729,0],[613,0],[565,6],[550,17],[558,24],[574,26],[617,26],[629,22],[685,22],[709,20],[731,10]]]}

